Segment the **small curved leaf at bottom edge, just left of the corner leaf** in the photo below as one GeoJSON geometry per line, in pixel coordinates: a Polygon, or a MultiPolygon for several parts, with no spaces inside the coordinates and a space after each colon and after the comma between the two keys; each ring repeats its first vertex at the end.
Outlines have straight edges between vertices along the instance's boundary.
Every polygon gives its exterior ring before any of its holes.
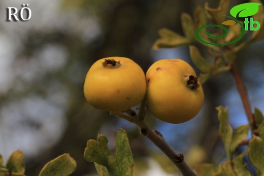
{"type": "Polygon", "coordinates": [[[242,152],[239,156],[233,159],[233,169],[237,175],[240,176],[251,176],[250,171],[246,168],[246,165],[243,163],[244,157],[247,154],[248,150],[242,152]]]}

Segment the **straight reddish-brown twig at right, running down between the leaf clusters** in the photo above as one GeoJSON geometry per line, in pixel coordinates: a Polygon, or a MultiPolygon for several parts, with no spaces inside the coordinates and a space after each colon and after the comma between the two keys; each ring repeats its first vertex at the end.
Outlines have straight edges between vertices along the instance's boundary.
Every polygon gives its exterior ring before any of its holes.
{"type": "Polygon", "coordinates": [[[254,119],[253,114],[251,112],[251,106],[250,106],[250,102],[249,102],[249,98],[247,95],[246,88],[244,87],[242,79],[238,73],[238,69],[237,69],[234,62],[231,65],[230,72],[232,73],[232,75],[236,81],[238,92],[239,92],[240,97],[242,99],[242,103],[243,103],[248,121],[249,121],[251,128],[252,128],[252,131],[253,131],[256,128],[256,122],[255,122],[255,119],[254,119]]]}

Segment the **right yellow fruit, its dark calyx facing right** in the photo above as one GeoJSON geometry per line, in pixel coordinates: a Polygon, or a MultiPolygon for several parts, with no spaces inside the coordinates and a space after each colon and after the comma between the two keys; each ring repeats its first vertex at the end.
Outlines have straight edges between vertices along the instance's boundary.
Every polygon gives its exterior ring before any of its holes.
{"type": "Polygon", "coordinates": [[[195,117],[204,103],[204,92],[192,67],[181,59],[153,63],[146,74],[147,104],[152,114],[169,123],[195,117]]]}

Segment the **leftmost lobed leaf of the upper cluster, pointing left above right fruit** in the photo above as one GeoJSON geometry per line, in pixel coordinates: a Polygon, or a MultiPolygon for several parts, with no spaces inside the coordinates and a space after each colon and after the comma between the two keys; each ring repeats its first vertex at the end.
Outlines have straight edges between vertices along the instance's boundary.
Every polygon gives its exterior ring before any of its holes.
{"type": "Polygon", "coordinates": [[[185,37],[170,29],[162,28],[158,33],[161,38],[154,43],[153,49],[173,48],[189,44],[189,41],[185,37]]]}

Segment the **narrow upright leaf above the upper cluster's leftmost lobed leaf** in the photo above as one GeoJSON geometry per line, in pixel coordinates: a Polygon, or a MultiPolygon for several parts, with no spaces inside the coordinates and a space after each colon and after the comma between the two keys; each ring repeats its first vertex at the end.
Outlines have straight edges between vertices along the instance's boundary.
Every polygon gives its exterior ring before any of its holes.
{"type": "Polygon", "coordinates": [[[191,43],[196,41],[194,24],[191,16],[187,13],[182,13],[181,23],[182,23],[182,30],[187,40],[190,41],[191,43]]]}

